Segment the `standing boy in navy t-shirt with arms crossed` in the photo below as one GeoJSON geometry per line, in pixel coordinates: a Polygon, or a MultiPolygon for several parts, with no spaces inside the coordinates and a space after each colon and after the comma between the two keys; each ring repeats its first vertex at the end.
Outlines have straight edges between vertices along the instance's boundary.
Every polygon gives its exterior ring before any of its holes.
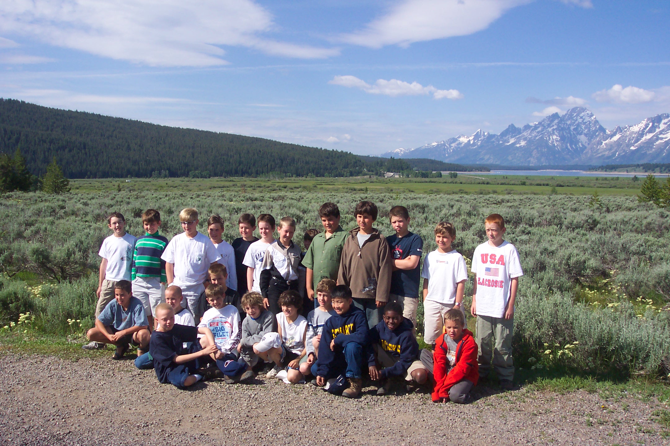
{"type": "Polygon", "coordinates": [[[416,333],[417,308],[419,306],[419,282],[421,282],[421,254],[423,240],[409,231],[409,211],[404,206],[394,206],[389,211],[391,228],[395,234],[386,237],[393,257],[391,294],[389,302],[398,302],[403,316],[411,320],[416,333]]]}

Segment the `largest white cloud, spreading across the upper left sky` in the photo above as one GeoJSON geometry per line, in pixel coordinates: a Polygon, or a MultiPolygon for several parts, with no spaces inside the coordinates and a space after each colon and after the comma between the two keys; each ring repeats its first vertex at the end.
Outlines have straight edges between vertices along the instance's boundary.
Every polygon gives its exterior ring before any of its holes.
{"type": "Polygon", "coordinates": [[[262,33],[273,27],[270,13],[253,0],[0,2],[0,33],[150,66],[226,64],[223,45],[290,58],[338,53],[264,38],[262,33]]]}

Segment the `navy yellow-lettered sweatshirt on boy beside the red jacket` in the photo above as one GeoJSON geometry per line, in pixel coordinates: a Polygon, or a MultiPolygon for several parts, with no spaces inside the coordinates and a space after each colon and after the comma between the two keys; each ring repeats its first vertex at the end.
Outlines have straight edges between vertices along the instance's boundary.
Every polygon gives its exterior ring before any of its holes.
{"type": "Polygon", "coordinates": [[[384,321],[379,322],[370,329],[370,348],[368,350],[368,366],[375,365],[375,349],[373,346],[379,344],[393,358],[397,360],[391,367],[383,368],[379,374],[382,378],[391,376],[403,376],[412,362],[419,356],[419,343],[412,333],[411,320],[405,318],[395,330],[389,330],[384,321]]]}

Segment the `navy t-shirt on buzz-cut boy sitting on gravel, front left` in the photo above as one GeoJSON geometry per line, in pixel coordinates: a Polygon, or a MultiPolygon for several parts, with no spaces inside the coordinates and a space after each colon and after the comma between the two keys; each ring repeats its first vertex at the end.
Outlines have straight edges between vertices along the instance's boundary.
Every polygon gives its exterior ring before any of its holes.
{"type": "Polygon", "coordinates": [[[177,354],[184,348],[184,342],[196,342],[198,340],[198,327],[174,324],[169,332],[154,330],[149,342],[149,353],[153,356],[153,369],[161,384],[170,382],[167,374],[178,364],[172,362],[177,354]]]}

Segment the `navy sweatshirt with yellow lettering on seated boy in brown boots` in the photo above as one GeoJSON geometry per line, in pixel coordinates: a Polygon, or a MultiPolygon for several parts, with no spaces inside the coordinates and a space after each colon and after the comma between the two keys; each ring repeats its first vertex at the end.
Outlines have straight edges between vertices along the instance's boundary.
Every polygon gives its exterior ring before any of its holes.
{"type": "Polygon", "coordinates": [[[328,376],[328,371],[333,368],[342,368],[342,351],[349,342],[356,342],[363,348],[368,343],[368,321],[365,313],[354,304],[351,304],[349,311],[344,314],[332,316],[324,324],[324,330],[321,333],[321,342],[319,343],[319,358],[316,362],[318,376],[328,376]],[[335,339],[335,351],[330,350],[330,342],[335,339]],[[338,364],[340,362],[340,364],[338,364]]]}

